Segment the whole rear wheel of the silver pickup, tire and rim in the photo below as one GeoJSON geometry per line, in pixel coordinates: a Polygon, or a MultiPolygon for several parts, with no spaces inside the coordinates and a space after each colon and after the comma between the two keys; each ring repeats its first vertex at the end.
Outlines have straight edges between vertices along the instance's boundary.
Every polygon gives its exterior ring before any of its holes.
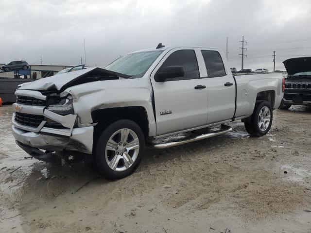
{"type": "Polygon", "coordinates": [[[268,101],[260,101],[256,104],[254,112],[244,122],[247,133],[253,136],[263,136],[271,128],[273,119],[272,108],[268,101]]]}

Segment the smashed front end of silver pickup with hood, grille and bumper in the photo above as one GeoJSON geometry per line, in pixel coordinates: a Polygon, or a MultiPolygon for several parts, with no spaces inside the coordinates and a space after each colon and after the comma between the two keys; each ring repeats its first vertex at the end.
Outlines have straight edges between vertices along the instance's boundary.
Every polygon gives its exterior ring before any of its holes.
{"type": "Polygon", "coordinates": [[[57,151],[91,154],[96,122],[82,124],[75,113],[70,86],[129,78],[99,67],[60,74],[19,87],[12,132],[17,145],[32,157],[50,161],[57,151]]]}

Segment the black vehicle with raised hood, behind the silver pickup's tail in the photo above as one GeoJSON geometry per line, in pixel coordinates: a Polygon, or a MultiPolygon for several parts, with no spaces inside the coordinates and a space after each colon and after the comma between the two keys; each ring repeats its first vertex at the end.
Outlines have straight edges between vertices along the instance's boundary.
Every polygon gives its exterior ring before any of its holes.
{"type": "Polygon", "coordinates": [[[311,57],[290,58],[283,64],[288,77],[280,109],[289,109],[292,104],[311,106],[311,57]]]}

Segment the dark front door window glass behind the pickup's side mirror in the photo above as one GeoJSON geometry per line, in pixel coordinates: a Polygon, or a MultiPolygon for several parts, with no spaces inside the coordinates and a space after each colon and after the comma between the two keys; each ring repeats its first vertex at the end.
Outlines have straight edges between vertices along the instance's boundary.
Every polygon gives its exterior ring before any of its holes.
{"type": "Polygon", "coordinates": [[[184,67],[184,77],[176,78],[180,79],[197,79],[200,77],[199,66],[196,60],[194,50],[178,50],[173,52],[159,68],[170,66],[182,66],[184,67]]]}

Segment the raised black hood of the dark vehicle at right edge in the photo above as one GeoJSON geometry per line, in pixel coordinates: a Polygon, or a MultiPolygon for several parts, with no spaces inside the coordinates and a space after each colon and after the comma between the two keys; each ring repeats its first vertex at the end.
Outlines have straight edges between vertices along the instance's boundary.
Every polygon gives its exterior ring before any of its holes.
{"type": "Polygon", "coordinates": [[[311,57],[290,58],[283,62],[289,75],[311,71],[311,57]]]}

